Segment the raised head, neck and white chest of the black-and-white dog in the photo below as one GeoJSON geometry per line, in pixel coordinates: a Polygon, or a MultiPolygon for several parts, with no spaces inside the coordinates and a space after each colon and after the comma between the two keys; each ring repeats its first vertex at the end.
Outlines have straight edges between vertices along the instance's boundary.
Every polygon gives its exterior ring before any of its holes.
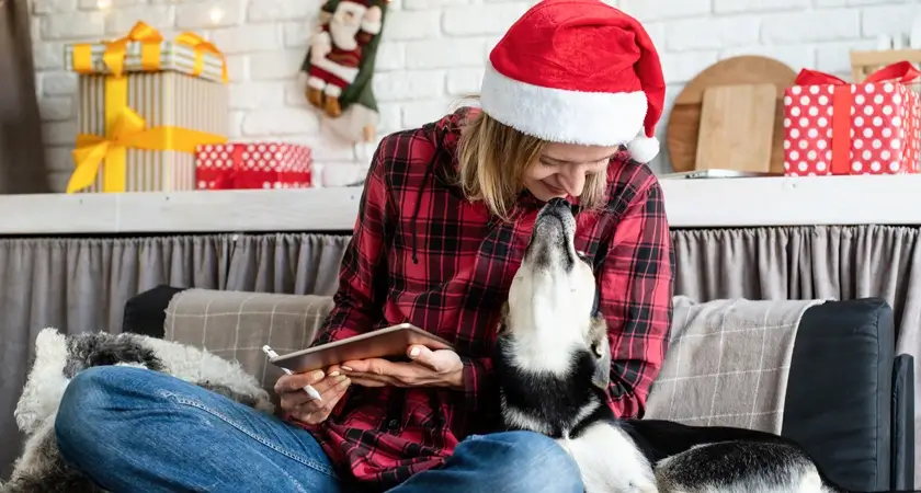
{"type": "Polygon", "coordinates": [[[605,404],[611,347],[592,314],[595,279],[576,251],[570,205],[537,215],[512,280],[493,362],[504,424],[557,440],[588,493],[655,493],[652,465],[605,404]]]}

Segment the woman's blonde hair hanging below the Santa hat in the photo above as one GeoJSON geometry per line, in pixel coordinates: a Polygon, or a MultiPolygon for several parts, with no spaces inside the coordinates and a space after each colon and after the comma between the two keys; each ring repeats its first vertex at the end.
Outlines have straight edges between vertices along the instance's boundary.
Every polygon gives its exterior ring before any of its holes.
{"type": "MultiPolygon", "coordinates": [[[[459,182],[469,200],[482,200],[489,210],[509,220],[524,174],[535,165],[547,141],[501,124],[484,112],[466,122],[457,145],[459,182]]],[[[585,177],[579,204],[589,209],[604,205],[607,174],[585,177]]]]}

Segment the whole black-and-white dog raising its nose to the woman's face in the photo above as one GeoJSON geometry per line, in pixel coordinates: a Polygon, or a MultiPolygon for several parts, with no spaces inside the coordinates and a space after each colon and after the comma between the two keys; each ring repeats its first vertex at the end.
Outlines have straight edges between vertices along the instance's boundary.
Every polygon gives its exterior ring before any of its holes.
{"type": "Polygon", "coordinates": [[[509,290],[494,355],[505,427],[555,438],[587,493],[846,492],[775,434],[615,419],[607,328],[575,232],[569,204],[547,203],[509,290]]]}

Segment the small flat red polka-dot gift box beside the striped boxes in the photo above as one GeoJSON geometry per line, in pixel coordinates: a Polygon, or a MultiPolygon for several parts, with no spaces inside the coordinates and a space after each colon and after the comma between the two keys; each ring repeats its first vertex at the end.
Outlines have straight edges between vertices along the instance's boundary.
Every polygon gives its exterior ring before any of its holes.
{"type": "Polygon", "coordinates": [[[198,190],[309,188],[312,151],[286,142],[235,142],[198,146],[198,190]]]}

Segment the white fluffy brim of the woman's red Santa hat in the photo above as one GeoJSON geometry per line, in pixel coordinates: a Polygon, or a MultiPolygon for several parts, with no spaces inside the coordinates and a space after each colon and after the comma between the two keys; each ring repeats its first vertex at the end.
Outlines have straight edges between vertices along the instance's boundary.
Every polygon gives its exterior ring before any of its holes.
{"type": "Polygon", "coordinates": [[[512,80],[487,62],[482,111],[527,135],[564,144],[619,146],[641,133],[646,93],[582,92],[512,80]]]}

